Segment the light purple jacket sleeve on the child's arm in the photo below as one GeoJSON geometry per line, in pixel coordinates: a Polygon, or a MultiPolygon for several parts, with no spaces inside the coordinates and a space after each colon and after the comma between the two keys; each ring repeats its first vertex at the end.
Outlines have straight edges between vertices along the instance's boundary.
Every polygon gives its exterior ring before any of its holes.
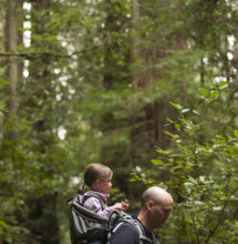
{"type": "Polygon", "coordinates": [[[105,210],[103,210],[100,201],[96,197],[90,197],[84,202],[83,205],[93,213],[96,213],[104,217],[108,217],[111,212],[113,211],[112,207],[106,207],[105,210]]]}

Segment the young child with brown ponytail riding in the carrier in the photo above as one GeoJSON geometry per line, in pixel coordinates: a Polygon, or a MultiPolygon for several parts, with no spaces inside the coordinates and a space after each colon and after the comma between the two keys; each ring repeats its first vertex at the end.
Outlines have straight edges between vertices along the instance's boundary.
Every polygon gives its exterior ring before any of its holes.
{"type": "MultiPolygon", "coordinates": [[[[112,206],[106,206],[108,192],[112,187],[112,176],[113,172],[108,166],[100,163],[90,164],[84,172],[84,184],[86,184],[91,191],[79,195],[79,200],[83,203],[84,207],[104,217],[108,217],[114,210],[126,211],[128,209],[127,200],[115,203],[112,206]],[[101,201],[94,196],[89,197],[90,195],[96,195],[101,201]],[[104,204],[102,205],[101,202],[104,204]]],[[[82,186],[79,193],[81,192],[82,186]]],[[[101,242],[95,240],[90,243],[100,244],[101,242]]]]}

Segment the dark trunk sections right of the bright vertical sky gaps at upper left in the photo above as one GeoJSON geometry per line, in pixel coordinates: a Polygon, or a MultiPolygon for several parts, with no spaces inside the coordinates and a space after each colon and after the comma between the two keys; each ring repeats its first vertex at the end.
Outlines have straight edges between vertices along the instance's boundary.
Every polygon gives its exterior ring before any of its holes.
{"type": "MultiPolygon", "coordinates": [[[[46,32],[46,23],[50,21],[49,12],[50,9],[50,0],[32,0],[32,17],[31,20],[34,24],[34,29],[32,29],[33,33],[37,35],[42,35],[46,32]],[[39,14],[40,13],[40,14],[39,14]],[[43,17],[43,18],[42,18],[43,17]]],[[[31,40],[31,45],[33,48],[39,48],[44,45],[49,47],[49,42],[44,40],[35,41],[34,39],[31,40]]],[[[52,48],[53,49],[53,48],[52,48]]],[[[43,50],[42,50],[43,51],[43,50]]],[[[34,99],[30,98],[25,101],[25,106],[28,106],[33,114],[30,115],[30,120],[34,120],[33,116],[38,116],[38,113],[42,110],[42,108],[51,109],[51,102],[49,94],[51,94],[51,70],[49,68],[50,64],[50,57],[42,58],[38,60],[31,60],[29,64],[29,77],[30,81],[33,83],[34,99]],[[50,100],[50,101],[49,101],[50,100]],[[39,103],[39,101],[41,101],[39,103]]],[[[32,84],[29,84],[32,85],[32,84]]],[[[48,109],[45,109],[48,110],[48,109]]],[[[45,112],[46,113],[46,112],[45,112]]],[[[46,121],[50,118],[46,118],[45,113],[43,113],[40,119],[35,121],[33,124],[32,131],[34,132],[35,140],[39,144],[39,153],[44,155],[45,148],[50,148],[54,143],[53,136],[44,136],[45,132],[50,132],[54,124],[48,123],[46,121]]],[[[50,114],[50,112],[48,113],[50,114]]],[[[44,177],[53,179],[54,171],[51,165],[48,165],[46,162],[42,162],[41,172],[43,173],[44,177]]],[[[42,179],[43,180],[43,179],[42,179]]],[[[35,236],[35,242],[38,243],[48,243],[48,244],[59,244],[60,236],[59,236],[59,221],[58,221],[58,197],[56,197],[56,190],[52,189],[52,193],[44,194],[40,197],[30,196],[28,199],[29,205],[31,209],[29,211],[29,224],[28,227],[31,230],[32,236],[35,236]],[[33,223],[33,224],[32,224],[33,223]],[[39,241],[37,241],[39,240],[39,241]]]]}

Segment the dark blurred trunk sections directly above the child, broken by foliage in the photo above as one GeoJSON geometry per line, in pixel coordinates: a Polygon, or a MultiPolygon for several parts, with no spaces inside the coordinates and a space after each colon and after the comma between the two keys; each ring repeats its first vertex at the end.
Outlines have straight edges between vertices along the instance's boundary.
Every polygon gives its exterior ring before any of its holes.
{"type": "MultiPolygon", "coordinates": [[[[123,73],[127,72],[128,59],[130,59],[130,48],[123,44],[128,40],[126,37],[121,37],[118,33],[123,32],[123,27],[126,23],[125,17],[118,9],[123,9],[123,4],[120,1],[106,1],[106,18],[104,28],[104,77],[103,87],[107,91],[116,90],[116,85],[127,84],[127,77],[123,77],[123,73]],[[123,62],[125,64],[118,64],[121,58],[124,58],[123,62]]],[[[101,116],[100,130],[108,135],[111,132],[116,133],[122,129],[118,119],[114,115],[114,108],[103,113],[101,116]]],[[[124,121],[122,121],[124,123],[124,121]]],[[[115,135],[116,136],[116,135],[115,135]]],[[[126,171],[131,165],[127,161],[127,148],[123,143],[116,141],[115,143],[102,143],[101,146],[101,160],[105,164],[112,166],[114,171],[114,182],[121,187],[123,192],[128,192],[127,190],[127,177],[130,170],[126,171]],[[120,148],[120,150],[117,150],[120,148]],[[118,157],[120,164],[118,165],[118,157]],[[123,169],[123,173],[121,172],[123,169]],[[126,173],[125,173],[126,172],[126,173]]]]}

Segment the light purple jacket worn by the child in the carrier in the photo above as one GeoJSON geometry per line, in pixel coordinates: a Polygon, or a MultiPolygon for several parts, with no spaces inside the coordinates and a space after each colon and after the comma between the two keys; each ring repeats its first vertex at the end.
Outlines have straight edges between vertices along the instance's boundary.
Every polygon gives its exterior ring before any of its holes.
{"type": "MultiPolygon", "coordinates": [[[[94,192],[94,191],[89,191],[89,192],[85,192],[83,195],[79,195],[80,203],[83,202],[84,196],[92,195],[92,194],[97,195],[104,203],[106,203],[107,195],[99,193],[99,192],[94,192]]],[[[96,213],[96,214],[104,216],[104,217],[108,217],[113,211],[112,206],[103,210],[102,204],[100,203],[100,201],[96,197],[90,197],[89,200],[86,200],[84,202],[83,205],[84,205],[84,207],[92,211],[93,213],[96,213]]]]}

